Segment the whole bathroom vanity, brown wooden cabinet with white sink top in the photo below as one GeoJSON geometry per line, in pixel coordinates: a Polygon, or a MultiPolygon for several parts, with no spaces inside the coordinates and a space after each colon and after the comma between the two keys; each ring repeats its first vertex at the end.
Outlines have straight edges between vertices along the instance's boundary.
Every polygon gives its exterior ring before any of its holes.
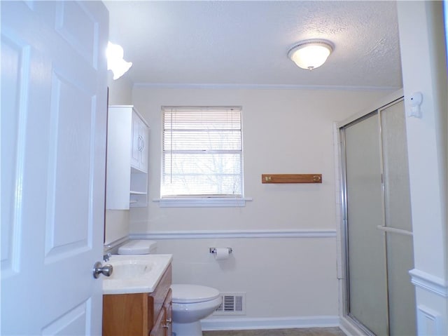
{"type": "Polygon", "coordinates": [[[141,260],[150,257],[133,256],[131,262],[123,261],[125,257],[120,260],[122,256],[119,255],[111,257],[118,278],[104,280],[103,336],[172,335],[172,257],[151,255],[151,260],[160,259],[160,256],[167,257],[163,261],[148,262],[150,270],[146,275],[132,274],[132,278],[129,273],[122,278],[123,269],[135,273],[135,266],[138,268],[142,264],[141,260]],[[142,280],[143,285],[139,280],[142,280]],[[126,283],[129,285],[126,286],[126,283]]]}

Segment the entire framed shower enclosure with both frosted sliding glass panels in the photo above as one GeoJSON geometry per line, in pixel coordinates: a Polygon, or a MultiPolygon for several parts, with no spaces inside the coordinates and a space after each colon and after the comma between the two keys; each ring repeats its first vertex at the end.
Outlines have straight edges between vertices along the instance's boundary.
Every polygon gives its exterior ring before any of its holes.
{"type": "Polygon", "coordinates": [[[416,335],[402,98],[339,127],[344,316],[367,335],[416,335]]]}

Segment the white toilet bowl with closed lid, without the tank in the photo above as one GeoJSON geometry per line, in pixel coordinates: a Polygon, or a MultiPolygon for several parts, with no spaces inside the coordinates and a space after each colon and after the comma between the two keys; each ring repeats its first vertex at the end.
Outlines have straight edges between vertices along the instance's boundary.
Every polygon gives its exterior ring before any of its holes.
{"type": "Polygon", "coordinates": [[[215,288],[202,285],[171,286],[173,296],[173,332],[176,336],[202,336],[200,320],[209,316],[221,304],[215,288]]]}

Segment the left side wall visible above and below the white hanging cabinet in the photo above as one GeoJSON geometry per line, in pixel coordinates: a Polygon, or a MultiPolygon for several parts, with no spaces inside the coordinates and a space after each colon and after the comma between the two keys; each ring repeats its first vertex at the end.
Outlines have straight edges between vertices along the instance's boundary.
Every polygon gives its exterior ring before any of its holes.
{"type": "MultiPolygon", "coordinates": [[[[132,105],[132,82],[126,75],[116,81],[108,73],[109,105],[132,105]]],[[[129,235],[130,211],[106,210],[104,243],[110,244],[129,235]]]]}

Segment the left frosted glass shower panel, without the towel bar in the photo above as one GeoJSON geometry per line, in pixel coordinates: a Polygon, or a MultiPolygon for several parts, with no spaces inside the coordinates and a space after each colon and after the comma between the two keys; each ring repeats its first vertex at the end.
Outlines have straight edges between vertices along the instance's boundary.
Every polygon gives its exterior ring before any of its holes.
{"type": "Polygon", "coordinates": [[[386,246],[377,113],[344,128],[348,313],[376,335],[388,335],[386,246]]]}

